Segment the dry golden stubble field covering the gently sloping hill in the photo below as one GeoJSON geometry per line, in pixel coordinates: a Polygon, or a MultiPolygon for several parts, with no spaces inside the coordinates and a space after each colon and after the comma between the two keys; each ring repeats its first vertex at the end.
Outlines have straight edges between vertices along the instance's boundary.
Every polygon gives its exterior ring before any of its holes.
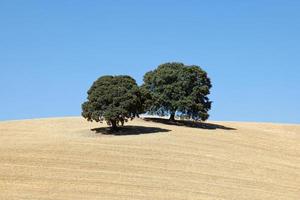
{"type": "Polygon", "coordinates": [[[300,199],[299,125],[211,123],[0,122],[0,199],[300,199]]]}

